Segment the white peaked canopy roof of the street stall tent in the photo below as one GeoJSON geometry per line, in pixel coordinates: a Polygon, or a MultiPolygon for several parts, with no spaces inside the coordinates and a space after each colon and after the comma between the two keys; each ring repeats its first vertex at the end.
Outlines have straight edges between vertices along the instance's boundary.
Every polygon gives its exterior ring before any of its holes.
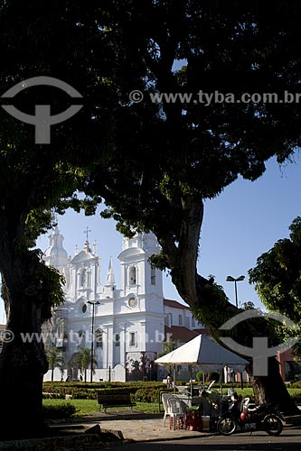
{"type": "Polygon", "coordinates": [[[249,362],[216,343],[211,336],[200,335],[159,357],[155,364],[187,364],[191,368],[197,365],[205,373],[214,370],[221,372],[223,367],[229,366],[241,373],[249,362]]]}

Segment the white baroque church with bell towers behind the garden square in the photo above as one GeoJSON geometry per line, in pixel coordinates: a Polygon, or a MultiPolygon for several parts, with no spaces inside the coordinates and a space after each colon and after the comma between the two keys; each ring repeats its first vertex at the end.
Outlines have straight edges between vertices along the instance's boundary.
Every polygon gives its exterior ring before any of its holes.
{"type": "MultiPolygon", "coordinates": [[[[163,273],[148,261],[160,251],[155,235],[143,233],[123,239],[118,255],[120,288],[112,259],[102,282],[96,243],[90,248],[87,237],[83,249],[76,247],[74,255],[68,257],[63,240],[56,226],[44,252],[45,263],[58,269],[66,281],[65,302],[55,308],[45,327],[46,347],[60,348],[64,357],[64,373],[55,369],[54,380],[79,380],[76,354],[80,348],[89,348],[94,355],[92,374],[91,365],[86,373],[88,381],[162,380],[166,370],[156,367],[154,360],[163,342],[182,345],[202,333],[203,327],[188,306],[165,299],[163,273]]],[[[51,378],[49,371],[44,381],[51,378]]]]}

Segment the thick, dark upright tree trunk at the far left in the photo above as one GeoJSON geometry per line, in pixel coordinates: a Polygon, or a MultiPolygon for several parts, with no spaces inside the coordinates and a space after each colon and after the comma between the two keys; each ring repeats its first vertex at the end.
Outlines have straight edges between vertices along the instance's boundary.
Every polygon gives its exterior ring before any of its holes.
{"type": "Polygon", "coordinates": [[[38,437],[45,429],[42,378],[48,370],[41,341],[45,299],[37,272],[42,263],[34,253],[13,253],[13,244],[1,247],[8,332],[0,354],[0,439],[38,437]]]}

